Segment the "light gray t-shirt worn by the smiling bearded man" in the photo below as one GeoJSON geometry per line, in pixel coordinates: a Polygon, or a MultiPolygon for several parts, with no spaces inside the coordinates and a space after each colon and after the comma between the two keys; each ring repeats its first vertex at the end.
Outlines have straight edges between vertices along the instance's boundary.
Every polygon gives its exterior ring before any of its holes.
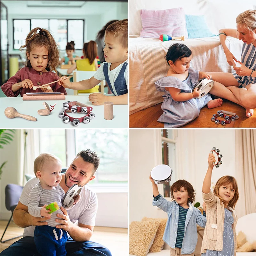
{"type": "MultiPolygon", "coordinates": [[[[28,198],[29,194],[38,184],[39,181],[35,178],[30,179],[22,190],[22,194],[20,196],[20,203],[28,206],[28,198]]],[[[87,186],[82,187],[82,191],[80,193],[81,199],[70,210],[67,210],[68,216],[71,222],[78,225],[78,222],[88,226],[95,225],[95,218],[98,209],[98,199],[94,192],[92,192],[87,186]]],[[[23,236],[34,236],[35,226],[30,226],[28,228],[24,228],[23,236]]]]}

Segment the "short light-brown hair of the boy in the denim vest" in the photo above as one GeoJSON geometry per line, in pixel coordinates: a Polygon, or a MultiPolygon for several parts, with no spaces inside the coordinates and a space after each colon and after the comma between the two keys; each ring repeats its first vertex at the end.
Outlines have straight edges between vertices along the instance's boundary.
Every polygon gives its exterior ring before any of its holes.
{"type": "Polygon", "coordinates": [[[128,48],[128,19],[118,20],[109,25],[105,31],[105,35],[108,34],[119,37],[122,46],[128,48]]]}

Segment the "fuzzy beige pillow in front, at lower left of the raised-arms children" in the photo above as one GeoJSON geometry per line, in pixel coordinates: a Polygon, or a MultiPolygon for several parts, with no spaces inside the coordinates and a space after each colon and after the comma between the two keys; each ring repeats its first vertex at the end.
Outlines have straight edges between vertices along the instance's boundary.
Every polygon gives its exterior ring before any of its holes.
{"type": "Polygon", "coordinates": [[[130,254],[146,256],[156,236],[160,221],[145,220],[130,223],[130,254]]]}

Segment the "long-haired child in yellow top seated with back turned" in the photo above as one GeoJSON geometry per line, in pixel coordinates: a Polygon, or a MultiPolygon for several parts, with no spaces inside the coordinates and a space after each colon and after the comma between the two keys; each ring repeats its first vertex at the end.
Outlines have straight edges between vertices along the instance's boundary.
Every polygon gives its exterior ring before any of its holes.
{"type": "MultiPolygon", "coordinates": [[[[98,60],[96,59],[97,44],[94,41],[84,43],[83,54],[84,58],[82,60],[77,60],[76,63],[68,69],[68,74],[71,74],[75,69],[82,71],[96,71],[98,69],[98,60]]],[[[79,90],[78,93],[99,92],[99,87],[100,86],[97,85],[89,90],[79,90]]]]}

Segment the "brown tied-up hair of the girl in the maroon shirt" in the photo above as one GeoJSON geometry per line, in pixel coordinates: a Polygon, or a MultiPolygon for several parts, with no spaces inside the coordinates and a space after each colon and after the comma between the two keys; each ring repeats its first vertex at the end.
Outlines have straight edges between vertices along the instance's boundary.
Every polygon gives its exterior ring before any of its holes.
{"type": "MultiPolygon", "coordinates": [[[[47,71],[54,70],[57,73],[56,67],[59,65],[59,50],[57,43],[47,29],[33,28],[28,33],[25,45],[20,46],[20,51],[22,48],[26,47],[26,52],[28,52],[29,54],[35,46],[44,46],[48,50],[48,63],[45,69],[47,71]],[[37,30],[39,30],[39,33],[36,33],[37,30]]],[[[26,67],[32,68],[30,60],[28,60],[27,54],[26,59],[26,67]]]]}

